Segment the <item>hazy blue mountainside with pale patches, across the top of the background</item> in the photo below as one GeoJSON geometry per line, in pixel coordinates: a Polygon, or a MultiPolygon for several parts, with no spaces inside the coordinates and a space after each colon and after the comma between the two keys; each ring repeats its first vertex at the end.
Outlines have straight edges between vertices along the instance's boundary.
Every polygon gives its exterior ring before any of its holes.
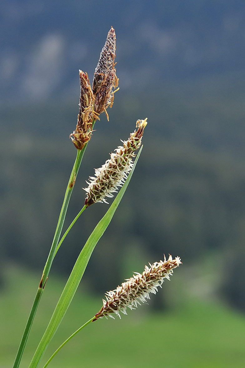
{"type": "Polygon", "coordinates": [[[78,70],[92,77],[111,25],[125,91],[243,71],[244,18],[242,0],[4,0],[0,98],[76,94],[78,70]]]}

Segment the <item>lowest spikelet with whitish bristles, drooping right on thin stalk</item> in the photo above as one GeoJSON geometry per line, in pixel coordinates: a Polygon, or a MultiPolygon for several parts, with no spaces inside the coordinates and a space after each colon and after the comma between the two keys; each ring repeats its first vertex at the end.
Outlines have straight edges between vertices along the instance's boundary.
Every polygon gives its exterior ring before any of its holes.
{"type": "Polygon", "coordinates": [[[169,276],[172,275],[173,269],[180,264],[179,257],[172,259],[172,256],[169,255],[168,261],[164,256],[164,261],[155,262],[153,265],[149,263],[150,268],[145,266],[142,274],[135,272],[133,277],[123,282],[117,289],[106,293],[103,307],[95,315],[93,321],[104,316],[114,318],[112,313],[120,317],[120,312],[127,314],[127,307],[132,310],[137,308],[138,304],[144,304],[146,299],[150,299],[149,293],[156,294],[158,286],[161,287],[164,281],[163,279],[170,280],[169,276]]]}

